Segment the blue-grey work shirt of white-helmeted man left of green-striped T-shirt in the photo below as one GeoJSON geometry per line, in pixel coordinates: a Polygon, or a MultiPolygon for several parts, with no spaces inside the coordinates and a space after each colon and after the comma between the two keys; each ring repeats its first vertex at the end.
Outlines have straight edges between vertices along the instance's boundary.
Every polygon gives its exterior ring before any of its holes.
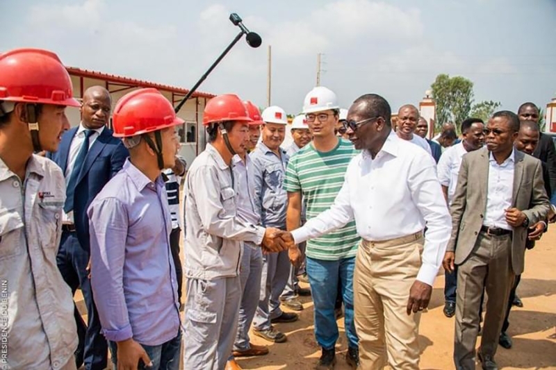
{"type": "Polygon", "coordinates": [[[255,174],[255,207],[265,227],[286,228],[288,192],[284,178],[289,156],[279,149],[280,156],[261,144],[250,154],[255,174]]]}

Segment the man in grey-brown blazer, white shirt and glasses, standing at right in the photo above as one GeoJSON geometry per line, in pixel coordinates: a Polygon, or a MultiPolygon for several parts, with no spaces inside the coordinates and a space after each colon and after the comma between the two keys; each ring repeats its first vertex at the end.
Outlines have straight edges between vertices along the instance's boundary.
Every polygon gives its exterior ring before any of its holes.
{"type": "Polygon", "coordinates": [[[482,369],[494,361],[514,278],[524,267],[528,228],[550,209],[541,162],[514,150],[519,119],[496,112],[486,124],[486,148],[464,155],[450,205],[452,237],[443,267],[455,271],[457,303],[454,362],[475,369],[482,292],[489,297],[479,359],[482,369]]]}

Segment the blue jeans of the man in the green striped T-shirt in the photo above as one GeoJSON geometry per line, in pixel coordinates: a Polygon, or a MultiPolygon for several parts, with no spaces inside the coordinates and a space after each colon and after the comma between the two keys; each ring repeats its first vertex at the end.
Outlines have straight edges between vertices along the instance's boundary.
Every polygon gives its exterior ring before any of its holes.
{"type": "Polygon", "coordinates": [[[353,312],[353,271],[355,258],[341,260],[317,260],[306,258],[306,271],[311,283],[311,294],[315,304],[315,337],[318,345],[332,349],[339,337],[338,324],[334,316],[334,306],[341,286],[345,307],[345,334],[350,347],[358,348],[359,339],[355,333],[353,312]]]}

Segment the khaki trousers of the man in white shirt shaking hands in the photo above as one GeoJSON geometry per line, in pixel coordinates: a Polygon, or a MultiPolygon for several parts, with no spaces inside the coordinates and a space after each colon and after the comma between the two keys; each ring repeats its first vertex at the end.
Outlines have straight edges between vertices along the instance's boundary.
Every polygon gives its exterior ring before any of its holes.
{"type": "Polygon", "coordinates": [[[353,284],[361,369],[383,369],[387,362],[419,369],[420,312],[406,310],[422,250],[423,233],[359,245],[353,284]]]}

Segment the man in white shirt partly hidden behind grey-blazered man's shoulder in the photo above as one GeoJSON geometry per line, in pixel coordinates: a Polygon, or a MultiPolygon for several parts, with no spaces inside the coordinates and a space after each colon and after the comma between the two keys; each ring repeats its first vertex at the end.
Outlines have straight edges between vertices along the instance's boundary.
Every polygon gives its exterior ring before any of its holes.
{"type": "MultiPolygon", "coordinates": [[[[464,155],[470,151],[481,149],[484,144],[484,122],[480,118],[468,118],[461,123],[461,133],[464,140],[450,146],[442,154],[437,171],[442,185],[444,198],[448,205],[452,202],[452,197],[456,191],[457,176],[459,167],[464,155]]],[[[456,286],[457,272],[450,274],[444,271],[444,314],[452,317],[456,311],[456,286]]]]}

